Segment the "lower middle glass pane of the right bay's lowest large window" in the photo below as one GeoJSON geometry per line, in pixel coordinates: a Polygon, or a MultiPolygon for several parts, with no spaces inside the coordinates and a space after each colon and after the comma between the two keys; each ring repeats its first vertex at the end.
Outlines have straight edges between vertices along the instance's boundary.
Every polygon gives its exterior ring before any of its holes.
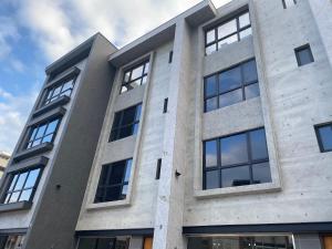
{"type": "Polygon", "coordinates": [[[222,187],[242,186],[250,184],[250,172],[248,166],[225,168],[221,170],[222,187]]]}

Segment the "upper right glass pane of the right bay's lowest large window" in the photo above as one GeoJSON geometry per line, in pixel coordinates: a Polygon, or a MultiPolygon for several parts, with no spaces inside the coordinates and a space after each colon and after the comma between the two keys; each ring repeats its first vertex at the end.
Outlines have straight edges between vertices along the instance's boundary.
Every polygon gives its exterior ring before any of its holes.
{"type": "Polygon", "coordinates": [[[251,158],[253,160],[268,158],[266,131],[263,128],[257,129],[250,132],[249,135],[250,135],[251,158]]]}

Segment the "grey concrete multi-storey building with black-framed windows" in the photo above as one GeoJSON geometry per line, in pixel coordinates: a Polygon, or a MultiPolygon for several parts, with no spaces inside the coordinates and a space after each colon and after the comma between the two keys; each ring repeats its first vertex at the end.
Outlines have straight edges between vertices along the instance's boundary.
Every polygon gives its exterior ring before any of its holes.
{"type": "Polygon", "coordinates": [[[331,12],[203,1],[46,68],[1,183],[4,248],[331,249],[331,12]]]}

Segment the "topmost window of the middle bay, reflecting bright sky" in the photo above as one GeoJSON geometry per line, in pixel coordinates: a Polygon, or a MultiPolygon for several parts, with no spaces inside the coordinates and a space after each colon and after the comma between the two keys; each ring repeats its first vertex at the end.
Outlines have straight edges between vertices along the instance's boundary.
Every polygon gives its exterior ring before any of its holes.
{"type": "Polygon", "coordinates": [[[125,71],[123,75],[121,93],[127,92],[138,85],[145,84],[147,80],[148,68],[149,62],[146,61],[135,68],[125,71]]]}

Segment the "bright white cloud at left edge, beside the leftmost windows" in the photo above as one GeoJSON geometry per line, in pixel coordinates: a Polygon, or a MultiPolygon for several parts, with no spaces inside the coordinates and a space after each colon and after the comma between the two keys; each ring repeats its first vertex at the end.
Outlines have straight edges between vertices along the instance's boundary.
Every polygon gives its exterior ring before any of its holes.
{"type": "Polygon", "coordinates": [[[22,132],[38,91],[13,96],[0,87],[0,149],[11,153],[22,132]]]}

